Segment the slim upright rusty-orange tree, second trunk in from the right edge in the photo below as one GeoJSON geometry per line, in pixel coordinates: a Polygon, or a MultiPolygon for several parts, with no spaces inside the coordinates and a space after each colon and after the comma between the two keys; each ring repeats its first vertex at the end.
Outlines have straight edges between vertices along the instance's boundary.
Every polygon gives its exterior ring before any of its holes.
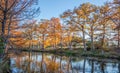
{"type": "Polygon", "coordinates": [[[104,49],[106,47],[106,43],[105,40],[106,40],[106,34],[107,34],[107,27],[109,25],[109,21],[110,21],[110,18],[109,18],[109,15],[110,15],[110,7],[109,5],[106,3],[104,6],[102,6],[100,8],[100,14],[99,14],[99,17],[100,17],[100,21],[99,21],[99,24],[101,25],[101,34],[102,34],[102,41],[101,41],[101,46],[102,48],[104,49]]]}

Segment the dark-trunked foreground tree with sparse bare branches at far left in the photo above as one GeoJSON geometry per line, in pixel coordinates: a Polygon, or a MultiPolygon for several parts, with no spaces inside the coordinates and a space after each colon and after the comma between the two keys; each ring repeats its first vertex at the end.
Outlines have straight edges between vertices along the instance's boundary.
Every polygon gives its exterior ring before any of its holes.
{"type": "Polygon", "coordinates": [[[7,28],[5,25],[9,24],[9,28],[12,26],[11,22],[34,17],[34,14],[39,10],[32,8],[35,2],[36,0],[0,0],[0,24],[1,36],[5,43],[4,48],[8,39],[5,36],[5,29],[7,28]]]}

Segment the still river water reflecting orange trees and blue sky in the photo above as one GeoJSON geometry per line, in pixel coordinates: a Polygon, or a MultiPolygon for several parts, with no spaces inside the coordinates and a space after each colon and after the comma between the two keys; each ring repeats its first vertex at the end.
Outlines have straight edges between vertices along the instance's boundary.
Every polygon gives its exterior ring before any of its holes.
{"type": "Polygon", "coordinates": [[[120,63],[82,57],[23,52],[10,55],[12,73],[120,73],[120,63]]]}

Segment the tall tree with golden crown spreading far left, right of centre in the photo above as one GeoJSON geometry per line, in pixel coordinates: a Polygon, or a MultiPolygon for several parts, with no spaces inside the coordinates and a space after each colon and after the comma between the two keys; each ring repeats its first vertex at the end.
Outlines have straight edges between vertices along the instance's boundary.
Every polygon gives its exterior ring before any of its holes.
{"type": "Polygon", "coordinates": [[[86,24],[89,22],[88,17],[92,11],[92,7],[93,5],[90,3],[84,3],[78,8],[75,8],[73,11],[68,10],[61,15],[61,17],[67,20],[67,22],[71,23],[71,26],[75,26],[82,31],[84,50],[86,50],[85,35],[89,36],[89,34],[86,32],[86,24]]]}

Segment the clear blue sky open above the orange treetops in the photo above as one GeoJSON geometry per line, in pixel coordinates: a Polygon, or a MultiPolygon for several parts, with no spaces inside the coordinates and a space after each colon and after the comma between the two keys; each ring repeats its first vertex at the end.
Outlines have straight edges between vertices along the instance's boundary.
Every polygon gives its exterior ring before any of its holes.
{"type": "Polygon", "coordinates": [[[50,19],[59,17],[65,10],[78,7],[82,3],[90,2],[95,5],[103,5],[106,1],[112,0],[39,0],[40,16],[39,19],[50,19]]]}

